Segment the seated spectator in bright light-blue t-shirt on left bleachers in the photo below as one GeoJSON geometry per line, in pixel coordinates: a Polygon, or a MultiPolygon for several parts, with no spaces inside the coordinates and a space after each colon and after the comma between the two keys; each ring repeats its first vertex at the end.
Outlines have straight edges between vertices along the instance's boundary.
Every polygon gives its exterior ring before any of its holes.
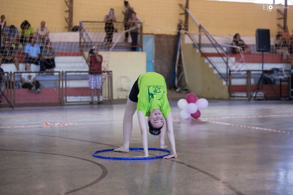
{"type": "Polygon", "coordinates": [[[24,47],[25,63],[39,65],[41,50],[40,50],[40,47],[35,43],[36,43],[35,37],[32,37],[29,40],[29,43],[25,45],[24,47]]]}

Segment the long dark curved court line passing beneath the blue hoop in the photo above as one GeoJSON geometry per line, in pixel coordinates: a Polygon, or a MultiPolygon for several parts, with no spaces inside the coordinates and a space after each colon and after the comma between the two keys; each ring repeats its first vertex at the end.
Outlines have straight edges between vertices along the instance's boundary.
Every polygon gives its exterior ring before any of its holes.
{"type": "MultiPolygon", "coordinates": [[[[14,132],[6,132],[6,131],[0,131],[2,133],[12,133],[12,134],[27,134],[27,133],[14,133],[14,132]]],[[[86,140],[79,140],[79,139],[75,139],[75,138],[67,138],[67,137],[58,137],[58,136],[49,136],[49,135],[40,135],[40,134],[28,134],[28,135],[37,135],[37,136],[48,136],[48,137],[57,137],[57,138],[65,138],[65,139],[72,139],[72,140],[77,140],[77,141],[84,141],[84,142],[89,142],[89,143],[98,143],[98,144],[103,144],[103,145],[107,145],[107,146],[113,146],[113,147],[117,147],[118,146],[114,146],[114,145],[109,145],[109,144],[105,144],[105,143],[99,143],[99,142],[93,142],[93,141],[86,141],[86,140]]],[[[139,152],[143,152],[143,151],[139,151],[139,152]]],[[[149,153],[150,155],[153,155],[153,156],[156,156],[155,154],[151,154],[149,153]]],[[[197,168],[197,167],[194,167],[192,165],[188,165],[186,163],[183,163],[183,162],[180,162],[178,160],[173,160],[173,159],[166,159],[166,160],[169,160],[169,161],[172,161],[172,162],[175,162],[175,163],[179,163],[179,164],[182,164],[182,165],[185,165],[186,167],[189,167],[193,170],[196,170],[198,172],[201,172],[205,175],[207,175],[208,177],[211,177],[212,179],[214,180],[217,180],[218,182],[224,184],[227,188],[229,188],[230,190],[232,190],[235,194],[237,195],[244,195],[241,191],[239,191],[238,189],[236,189],[235,187],[233,187],[231,184],[223,181],[222,179],[220,179],[219,177],[209,173],[209,172],[206,172],[200,168],[197,168]]]]}

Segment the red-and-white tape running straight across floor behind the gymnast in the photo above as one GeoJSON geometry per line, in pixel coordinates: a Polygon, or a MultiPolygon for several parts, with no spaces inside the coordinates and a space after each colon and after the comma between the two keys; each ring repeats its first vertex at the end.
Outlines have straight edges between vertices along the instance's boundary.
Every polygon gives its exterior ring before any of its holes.
{"type": "MultiPolygon", "coordinates": [[[[210,118],[202,118],[202,119],[192,119],[192,120],[210,120],[210,119],[238,119],[238,118],[262,118],[262,117],[285,117],[285,116],[293,116],[293,114],[275,114],[275,115],[253,115],[253,116],[236,116],[236,117],[210,117],[210,118]]],[[[173,118],[173,121],[180,121],[180,120],[190,120],[190,119],[182,119],[182,118],[173,118]]],[[[138,122],[138,121],[134,121],[138,122]]],[[[21,126],[2,126],[0,129],[11,129],[11,128],[23,128],[23,127],[46,127],[46,126],[67,126],[67,125],[90,125],[90,124],[116,124],[116,123],[123,123],[123,122],[98,122],[98,123],[47,123],[44,122],[42,125],[21,125],[21,126]],[[55,125],[56,124],[56,125],[55,125]],[[58,125],[60,124],[60,125],[58,125]]]]}

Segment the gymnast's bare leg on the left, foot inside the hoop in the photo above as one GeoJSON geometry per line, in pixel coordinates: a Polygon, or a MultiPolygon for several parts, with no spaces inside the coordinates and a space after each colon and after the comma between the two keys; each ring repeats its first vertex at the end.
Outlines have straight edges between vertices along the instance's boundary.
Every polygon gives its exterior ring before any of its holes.
{"type": "Polygon", "coordinates": [[[123,146],[115,149],[114,151],[129,152],[129,142],[132,133],[132,118],[136,111],[136,104],[137,102],[132,102],[128,98],[123,117],[123,146]]]}

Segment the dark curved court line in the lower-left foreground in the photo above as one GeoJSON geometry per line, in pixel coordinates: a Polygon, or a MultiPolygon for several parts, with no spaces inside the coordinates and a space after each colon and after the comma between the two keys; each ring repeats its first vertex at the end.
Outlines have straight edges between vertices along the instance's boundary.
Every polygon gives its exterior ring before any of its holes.
{"type": "MultiPolygon", "coordinates": [[[[1,149],[0,149],[1,150],[1,149]]],[[[97,179],[95,179],[93,182],[85,185],[85,186],[82,186],[82,187],[79,187],[79,188],[76,188],[76,189],[73,189],[73,190],[70,190],[70,191],[67,191],[67,192],[64,192],[64,193],[61,193],[60,195],[63,195],[63,194],[70,194],[70,193],[73,193],[73,192],[76,192],[76,191],[79,191],[79,190],[82,190],[82,189],[85,189],[87,187],[90,187],[98,182],[100,182],[102,179],[104,179],[106,177],[106,175],[108,174],[108,170],[107,168],[100,164],[100,163],[97,163],[93,160],[88,160],[86,158],[79,158],[79,157],[75,157],[75,156],[69,156],[69,155],[64,155],[64,154],[55,154],[55,153],[47,153],[47,152],[36,152],[36,151],[25,151],[25,150],[2,150],[2,151],[12,151],[12,152],[30,152],[30,153],[41,153],[41,154],[51,154],[51,155],[59,155],[59,156],[65,156],[65,157],[70,157],[70,158],[76,158],[76,159],[80,159],[80,160],[85,160],[85,161],[88,161],[90,163],[93,163],[93,164],[96,164],[98,165],[101,169],[102,169],[102,174],[100,175],[100,177],[98,177],[97,179]]]]}

